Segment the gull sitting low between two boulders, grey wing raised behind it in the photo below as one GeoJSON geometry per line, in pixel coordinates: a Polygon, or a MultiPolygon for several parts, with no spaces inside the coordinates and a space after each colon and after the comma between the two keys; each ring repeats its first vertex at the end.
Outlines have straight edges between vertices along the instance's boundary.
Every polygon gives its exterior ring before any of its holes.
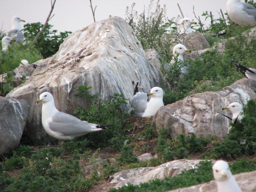
{"type": "Polygon", "coordinates": [[[163,102],[164,91],[160,87],[154,87],[150,93],[137,92],[132,99],[132,113],[138,117],[151,117],[158,109],[164,106],[163,102]],[[149,102],[148,97],[151,96],[149,102]]]}

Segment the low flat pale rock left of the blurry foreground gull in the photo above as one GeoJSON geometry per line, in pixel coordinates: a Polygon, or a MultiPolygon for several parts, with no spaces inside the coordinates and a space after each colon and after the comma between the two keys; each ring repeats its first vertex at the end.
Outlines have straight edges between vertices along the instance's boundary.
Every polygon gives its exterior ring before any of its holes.
{"type": "Polygon", "coordinates": [[[140,183],[148,182],[155,179],[164,179],[168,176],[176,176],[183,170],[195,168],[202,160],[174,160],[168,163],[164,163],[156,167],[147,168],[135,168],[130,170],[124,170],[114,174],[111,178],[111,183],[117,183],[114,188],[122,187],[128,183],[133,185],[139,185],[140,183]]]}

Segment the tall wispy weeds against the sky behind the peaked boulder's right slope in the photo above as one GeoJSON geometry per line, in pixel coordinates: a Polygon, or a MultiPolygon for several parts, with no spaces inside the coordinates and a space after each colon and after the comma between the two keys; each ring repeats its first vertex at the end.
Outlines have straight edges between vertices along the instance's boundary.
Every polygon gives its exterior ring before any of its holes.
{"type": "Polygon", "coordinates": [[[159,0],[156,3],[150,0],[147,9],[139,14],[134,10],[135,5],[133,3],[130,8],[126,7],[126,21],[130,22],[142,47],[144,50],[155,48],[161,56],[168,56],[172,53],[172,46],[177,44],[181,35],[172,28],[175,23],[174,19],[167,20],[166,6],[161,7],[159,0]]]}

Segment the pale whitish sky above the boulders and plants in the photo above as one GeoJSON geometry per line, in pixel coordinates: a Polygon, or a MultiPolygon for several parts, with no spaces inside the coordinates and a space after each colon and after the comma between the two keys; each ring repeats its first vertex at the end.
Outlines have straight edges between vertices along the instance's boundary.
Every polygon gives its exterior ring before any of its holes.
{"type": "MultiPolygon", "coordinates": [[[[109,15],[120,16],[125,19],[127,6],[135,2],[135,10],[143,12],[144,5],[147,9],[150,0],[92,0],[96,21],[108,18],[109,15]]],[[[155,0],[156,2],[156,0],[155,0]]],[[[168,18],[180,15],[179,3],[185,17],[194,18],[193,5],[196,16],[202,17],[204,11],[212,11],[217,18],[220,9],[226,13],[227,0],[160,0],[161,5],[166,5],[168,18]],[[217,12],[218,11],[218,12],[217,12]]],[[[49,24],[58,32],[82,29],[93,22],[90,0],[57,0],[54,11],[55,16],[49,24]]],[[[0,0],[0,30],[9,31],[12,28],[12,16],[18,15],[26,23],[41,22],[44,24],[51,8],[51,0],[0,0]]],[[[23,28],[23,22],[21,22],[23,28]]]]}

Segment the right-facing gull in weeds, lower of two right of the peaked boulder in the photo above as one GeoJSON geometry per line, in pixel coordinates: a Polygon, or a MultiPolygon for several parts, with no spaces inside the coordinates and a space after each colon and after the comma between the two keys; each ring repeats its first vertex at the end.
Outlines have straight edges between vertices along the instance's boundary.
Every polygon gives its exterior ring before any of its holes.
{"type": "MultiPolygon", "coordinates": [[[[171,65],[173,65],[175,63],[175,59],[177,58],[178,61],[184,61],[183,59],[183,55],[186,52],[191,52],[189,49],[187,49],[184,45],[182,44],[177,44],[176,46],[174,46],[173,50],[172,50],[172,60],[170,62],[171,65]]],[[[181,69],[182,73],[188,73],[187,67],[182,67],[181,69]]]]}

